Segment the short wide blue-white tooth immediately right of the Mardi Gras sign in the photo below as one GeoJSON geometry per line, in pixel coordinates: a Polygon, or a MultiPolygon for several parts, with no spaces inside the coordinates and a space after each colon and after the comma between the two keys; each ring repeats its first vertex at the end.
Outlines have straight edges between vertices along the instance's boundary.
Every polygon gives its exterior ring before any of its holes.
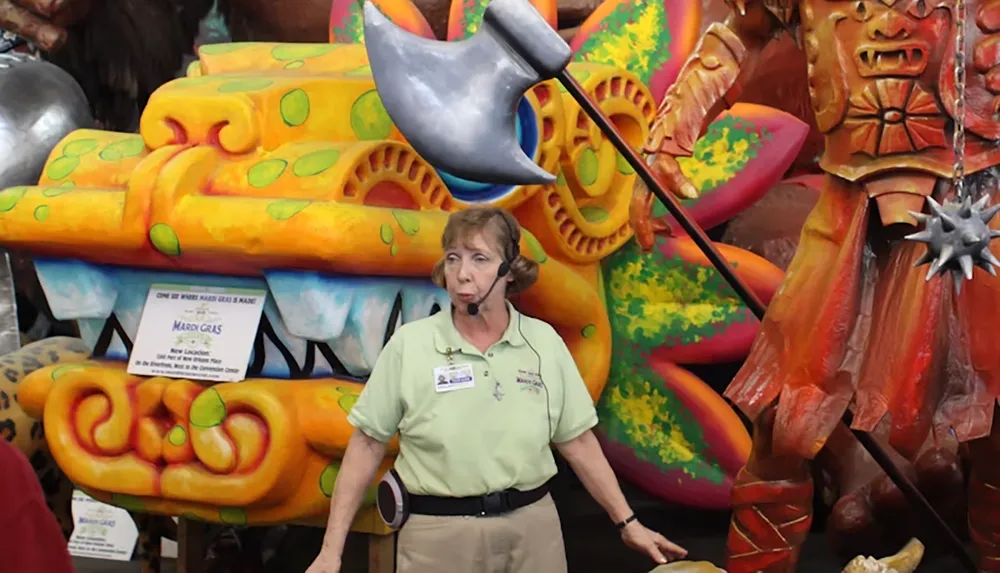
{"type": "Polygon", "coordinates": [[[355,291],[342,287],[354,279],[285,271],[265,277],[289,333],[306,340],[330,340],[344,331],[355,291]]]}

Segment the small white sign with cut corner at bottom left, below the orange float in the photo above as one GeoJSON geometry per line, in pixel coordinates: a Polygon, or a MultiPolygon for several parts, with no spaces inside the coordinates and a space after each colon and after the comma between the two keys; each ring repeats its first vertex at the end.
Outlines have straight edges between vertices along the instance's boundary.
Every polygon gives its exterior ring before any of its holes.
{"type": "Polygon", "coordinates": [[[73,491],[70,555],[129,561],[138,539],[139,530],[127,511],[101,503],[80,490],[73,491]]]}

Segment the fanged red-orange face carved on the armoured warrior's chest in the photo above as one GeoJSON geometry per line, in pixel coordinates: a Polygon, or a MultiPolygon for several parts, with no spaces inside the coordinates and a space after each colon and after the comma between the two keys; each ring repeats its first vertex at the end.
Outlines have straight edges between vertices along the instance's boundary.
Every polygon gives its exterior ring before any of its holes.
{"type": "MultiPolygon", "coordinates": [[[[862,78],[937,76],[951,32],[954,0],[852,0],[843,4],[837,41],[862,78]]],[[[845,62],[846,63],[846,62],[845,62]]]]}

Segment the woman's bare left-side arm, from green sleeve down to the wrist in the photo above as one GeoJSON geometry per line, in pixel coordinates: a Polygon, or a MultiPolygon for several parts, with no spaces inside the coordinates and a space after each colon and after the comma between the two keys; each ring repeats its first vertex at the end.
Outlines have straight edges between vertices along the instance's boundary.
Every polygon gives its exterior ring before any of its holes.
{"type": "Polygon", "coordinates": [[[361,507],[365,490],[385,456],[385,449],[384,443],[361,430],[356,429],[351,435],[333,486],[330,517],[326,523],[326,535],[323,536],[323,553],[336,556],[338,560],[343,554],[347,532],[361,507]]]}

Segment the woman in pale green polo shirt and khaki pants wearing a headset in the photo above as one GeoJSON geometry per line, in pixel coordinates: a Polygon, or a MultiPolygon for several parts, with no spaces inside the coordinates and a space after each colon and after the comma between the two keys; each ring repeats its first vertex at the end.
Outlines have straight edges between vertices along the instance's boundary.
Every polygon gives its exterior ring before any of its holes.
{"type": "Polygon", "coordinates": [[[546,489],[556,474],[550,444],[628,545],[658,563],[686,554],[635,519],[591,432],[597,412],[565,343],[507,302],[538,277],[520,239],[517,220],[501,209],[448,219],[432,278],[452,308],[404,325],[379,355],[348,416],[356,429],[308,573],[340,570],[350,524],[397,432],[394,470],[411,507],[399,533],[401,573],[565,572],[546,489]]]}

